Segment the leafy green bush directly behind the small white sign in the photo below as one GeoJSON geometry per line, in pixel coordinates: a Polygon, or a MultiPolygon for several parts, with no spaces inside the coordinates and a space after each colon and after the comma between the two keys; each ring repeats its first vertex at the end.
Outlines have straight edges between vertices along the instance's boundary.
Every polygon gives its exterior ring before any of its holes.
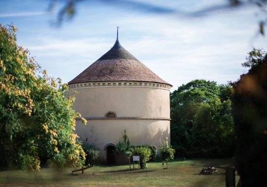
{"type": "Polygon", "coordinates": [[[147,162],[150,159],[151,150],[147,147],[134,147],[131,151],[134,156],[140,156],[140,168],[147,168],[147,162]]]}

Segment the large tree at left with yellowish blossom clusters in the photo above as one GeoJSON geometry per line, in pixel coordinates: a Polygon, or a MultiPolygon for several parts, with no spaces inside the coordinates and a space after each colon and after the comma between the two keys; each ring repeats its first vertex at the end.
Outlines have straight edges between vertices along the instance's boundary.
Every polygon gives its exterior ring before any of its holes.
{"type": "Polygon", "coordinates": [[[39,170],[47,159],[59,168],[81,165],[74,98],[17,46],[16,31],[0,24],[0,165],[39,170]]]}

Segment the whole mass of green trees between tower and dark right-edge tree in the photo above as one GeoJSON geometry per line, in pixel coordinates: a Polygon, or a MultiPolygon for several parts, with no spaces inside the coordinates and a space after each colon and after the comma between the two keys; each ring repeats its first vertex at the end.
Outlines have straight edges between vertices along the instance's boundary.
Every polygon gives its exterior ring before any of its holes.
{"type": "Polygon", "coordinates": [[[171,145],[179,156],[233,156],[231,85],[194,80],[170,94],[171,145]]]}

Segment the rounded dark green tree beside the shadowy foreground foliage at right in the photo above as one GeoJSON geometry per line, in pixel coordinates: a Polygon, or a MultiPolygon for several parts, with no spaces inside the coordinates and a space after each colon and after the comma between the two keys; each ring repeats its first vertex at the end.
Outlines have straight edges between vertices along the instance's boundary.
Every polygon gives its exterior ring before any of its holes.
{"type": "Polygon", "coordinates": [[[196,156],[228,156],[234,154],[234,125],[231,101],[218,97],[201,103],[196,111],[191,134],[186,134],[196,156]]]}

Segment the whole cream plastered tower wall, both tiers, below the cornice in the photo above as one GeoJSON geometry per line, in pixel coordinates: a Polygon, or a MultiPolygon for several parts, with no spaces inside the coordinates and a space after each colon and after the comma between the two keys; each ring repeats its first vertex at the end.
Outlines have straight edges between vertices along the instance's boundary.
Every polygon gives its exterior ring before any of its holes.
{"type": "Polygon", "coordinates": [[[74,109],[87,119],[87,125],[76,121],[76,132],[82,141],[94,143],[103,152],[103,159],[104,147],[116,144],[124,130],[131,144],[152,144],[157,149],[159,140],[170,138],[168,89],[102,86],[74,90],[78,91],[74,109]],[[117,119],[103,119],[108,111],[115,112],[117,119]]]}

